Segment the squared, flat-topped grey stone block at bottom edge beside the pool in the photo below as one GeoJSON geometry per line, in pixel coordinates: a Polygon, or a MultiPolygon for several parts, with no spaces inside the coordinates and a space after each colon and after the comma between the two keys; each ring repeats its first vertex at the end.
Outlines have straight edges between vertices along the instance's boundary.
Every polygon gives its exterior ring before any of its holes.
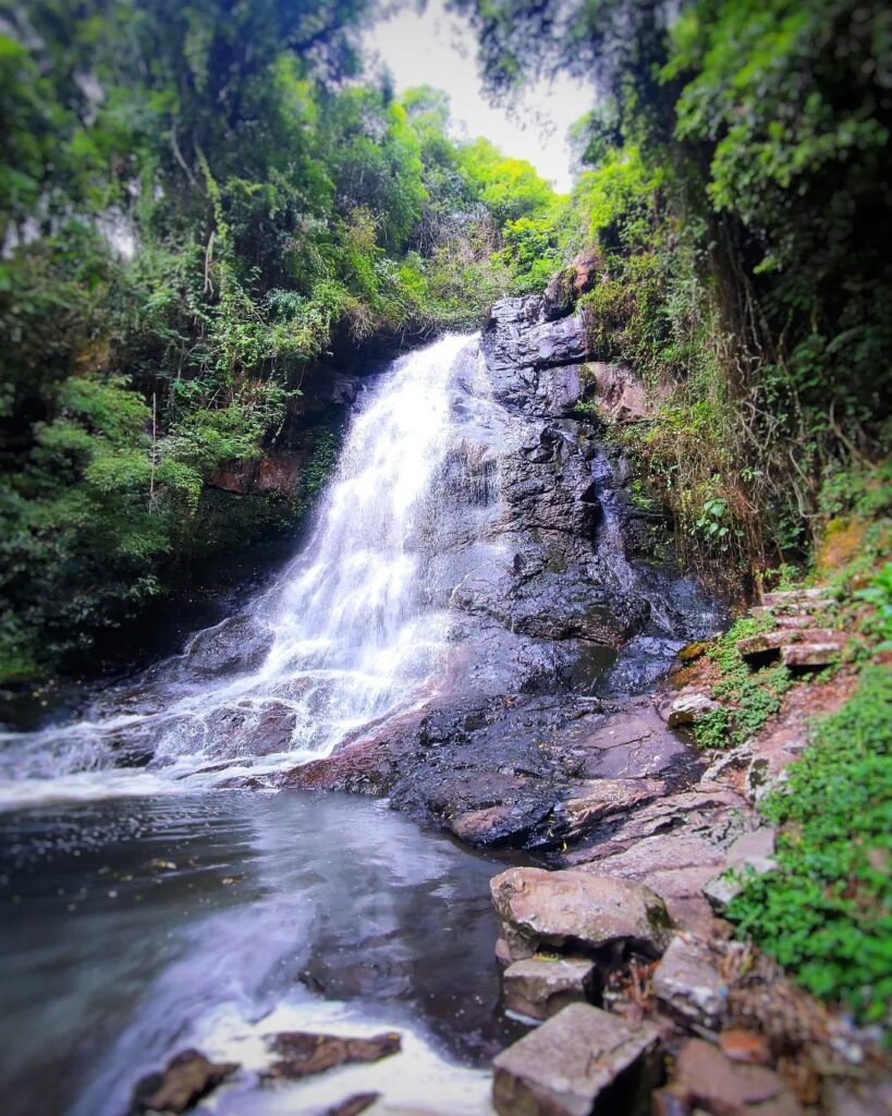
{"type": "Polygon", "coordinates": [[[501,1116],[639,1116],[656,1079],[658,1033],[576,1003],[493,1061],[501,1116]]]}

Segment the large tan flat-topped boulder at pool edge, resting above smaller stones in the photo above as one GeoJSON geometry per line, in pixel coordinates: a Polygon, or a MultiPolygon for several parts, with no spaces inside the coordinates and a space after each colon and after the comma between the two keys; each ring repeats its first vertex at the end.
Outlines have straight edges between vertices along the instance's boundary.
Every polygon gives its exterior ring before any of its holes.
{"type": "Polygon", "coordinates": [[[489,882],[514,961],[542,947],[657,958],[671,936],[666,904],[649,887],[588,872],[508,868],[489,882]]]}

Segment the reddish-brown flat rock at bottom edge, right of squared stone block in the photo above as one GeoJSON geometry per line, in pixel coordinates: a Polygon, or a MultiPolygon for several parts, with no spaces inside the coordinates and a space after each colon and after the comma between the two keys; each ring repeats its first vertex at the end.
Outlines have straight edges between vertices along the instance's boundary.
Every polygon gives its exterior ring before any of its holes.
{"type": "Polygon", "coordinates": [[[710,1116],[802,1116],[802,1108],[773,1070],[731,1061],[709,1042],[691,1039],[681,1049],[675,1078],[657,1095],[658,1112],[710,1116]],[[676,1107],[671,1107],[675,1101],[676,1107]]]}

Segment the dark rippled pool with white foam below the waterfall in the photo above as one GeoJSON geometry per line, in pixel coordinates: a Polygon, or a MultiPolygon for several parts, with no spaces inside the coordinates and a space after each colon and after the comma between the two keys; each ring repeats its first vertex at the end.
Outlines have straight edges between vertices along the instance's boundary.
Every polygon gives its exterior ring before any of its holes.
{"type": "Polygon", "coordinates": [[[380,801],[227,792],[0,815],[7,1116],[122,1116],[187,1047],[242,1069],[222,1116],[489,1113],[500,864],[380,801]],[[265,1038],[396,1030],[403,1052],[261,1084],[265,1038]]]}

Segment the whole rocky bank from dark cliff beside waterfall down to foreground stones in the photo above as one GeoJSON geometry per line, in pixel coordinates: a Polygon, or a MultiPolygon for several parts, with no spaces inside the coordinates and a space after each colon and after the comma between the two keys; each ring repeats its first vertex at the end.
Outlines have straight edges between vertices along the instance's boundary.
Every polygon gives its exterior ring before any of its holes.
{"type": "MultiPolygon", "coordinates": [[[[482,431],[457,487],[476,485],[507,546],[452,594],[456,684],[288,781],[387,796],[542,866],[492,885],[505,1001],[537,1024],[495,1060],[503,1116],[886,1110],[870,1040],[721,917],[740,876],[773,863],[758,799],[805,745],[806,706],[837,708],[845,676],[794,690],[719,758],[695,748],[717,708],[702,641],[725,617],[661,557],[667,525],[636,507],[600,430],[644,417],[643,386],[547,299],[496,304],[482,357],[508,433],[482,431]]],[[[820,605],[766,598],[782,634],[740,647],[753,668],[834,661],[820,605]]]]}

